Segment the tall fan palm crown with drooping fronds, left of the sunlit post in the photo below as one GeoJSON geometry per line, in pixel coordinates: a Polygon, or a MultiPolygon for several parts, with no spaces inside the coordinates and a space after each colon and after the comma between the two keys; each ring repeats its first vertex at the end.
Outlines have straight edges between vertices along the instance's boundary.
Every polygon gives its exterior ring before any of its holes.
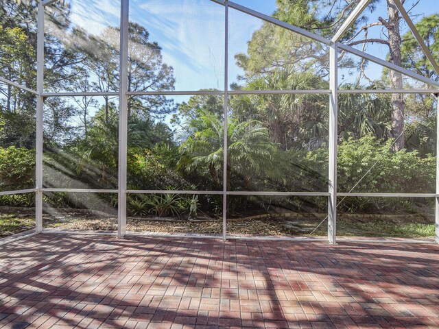
{"type": "MultiPolygon", "coordinates": [[[[313,73],[295,71],[291,66],[270,74],[254,75],[244,90],[294,90],[327,88],[313,73]]],[[[230,101],[231,115],[239,121],[257,119],[268,128],[272,141],[281,149],[302,148],[314,138],[327,136],[327,97],[322,95],[239,95],[230,101]]]]}

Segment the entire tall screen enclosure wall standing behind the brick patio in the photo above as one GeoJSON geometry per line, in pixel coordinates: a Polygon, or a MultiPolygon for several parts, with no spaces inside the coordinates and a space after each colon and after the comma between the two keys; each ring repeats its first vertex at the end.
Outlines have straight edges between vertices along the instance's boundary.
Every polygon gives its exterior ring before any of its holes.
{"type": "Polygon", "coordinates": [[[1,1],[1,236],[438,243],[437,13],[318,2],[1,1]]]}

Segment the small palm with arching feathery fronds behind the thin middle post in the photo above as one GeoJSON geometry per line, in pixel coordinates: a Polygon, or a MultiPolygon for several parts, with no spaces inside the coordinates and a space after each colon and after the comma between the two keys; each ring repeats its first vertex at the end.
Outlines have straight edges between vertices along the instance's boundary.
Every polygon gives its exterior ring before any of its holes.
{"type": "MultiPolygon", "coordinates": [[[[189,172],[207,169],[215,187],[219,187],[219,175],[224,162],[224,122],[215,114],[202,111],[200,117],[191,120],[189,125],[197,127],[191,131],[180,146],[182,154],[178,169],[189,172]]],[[[227,175],[241,175],[244,181],[250,179],[250,173],[272,175],[275,171],[273,158],[276,144],[268,138],[268,129],[261,122],[250,119],[238,122],[228,121],[227,129],[227,175]]],[[[230,188],[230,180],[228,181],[230,188]]]]}

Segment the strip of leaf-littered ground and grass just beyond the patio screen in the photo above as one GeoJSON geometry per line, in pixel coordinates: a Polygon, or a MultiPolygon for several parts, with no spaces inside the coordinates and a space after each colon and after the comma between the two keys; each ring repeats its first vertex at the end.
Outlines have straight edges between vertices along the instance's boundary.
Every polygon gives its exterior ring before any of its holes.
{"type": "MultiPolygon", "coordinates": [[[[0,237],[34,228],[34,212],[17,211],[0,214],[0,237]]],[[[44,228],[63,230],[117,230],[116,217],[87,212],[58,212],[43,215],[44,228]]],[[[222,234],[221,219],[184,221],[158,217],[128,217],[129,232],[168,232],[222,234]]],[[[325,214],[304,217],[228,219],[229,234],[249,236],[324,236],[327,234],[325,214]]],[[[337,218],[337,236],[377,236],[402,238],[434,237],[434,219],[421,215],[352,215],[337,218]]]]}

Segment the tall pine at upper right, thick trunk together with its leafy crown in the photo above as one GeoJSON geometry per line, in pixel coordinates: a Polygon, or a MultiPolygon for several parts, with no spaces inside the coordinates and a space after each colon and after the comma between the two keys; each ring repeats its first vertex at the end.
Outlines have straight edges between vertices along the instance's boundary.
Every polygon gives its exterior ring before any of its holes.
{"type": "MultiPolygon", "coordinates": [[[[359,1],[277,0],[277,8],[273,16],[311,32],[317,32],[322,36],[332,36],[337,27],[340,27],[344,19],[357,7],[359,1]],[[328,8],[329,12],[322,16],[321,12],[328,8]]],[[[377,3],[377,0],[371,1],[370,12],[376,9],[377,3]]],[[[384,18],[380,16],[378,21],[372,23],[367,22],[367,14],[361,15],[343,36],[342,41],[351,46],[361,45],[362,50],[366,50],[366,45],[371,43],[385,45],[388,47],[389,62],[401,66],[403,58],[399,25],[402,17],[393,0],[386,0],[386,10],[384,18]],[[383,35],[388,36],[386,40],[369,37],[370,29],[378,27],[384,30],[383,35]]],[[[434,21],[430,21],[431,24],[434,24],[434,21]]],[[[328,62],[325,60],[327,47],[321,47],[318,42],[312,42],[292,34],[281,27],[274,27],[270,23],[264,23],[261,29],[253,34],[252,39],[248,42],[247,55],[238,54],[235,58],[237,65],[244,69],[244,77],[239,77],[239,80],[249,80],[255,75],[271,74],[277,69],[285,69],[289,66],[293,66],[297,71],[305,71],[319,76],[327,75],[328,69],[328,62]]],[[[361,74],[364,73],[364,66],[367,64],[366,60],[361,60],[359,64],[356,64],[344,55],[339,60],[341,67],[359,67],[361,74]]],[[[403,88],[401,73],[390,70],[386,72],[392,88],[403,88]]],[[[399,151],[405,145],[403,134],[405,101],[403,95],[392,94],[390,103],[392,104],[390,112],[392,138],[396,139],[394,151],[399,151]]]]}

